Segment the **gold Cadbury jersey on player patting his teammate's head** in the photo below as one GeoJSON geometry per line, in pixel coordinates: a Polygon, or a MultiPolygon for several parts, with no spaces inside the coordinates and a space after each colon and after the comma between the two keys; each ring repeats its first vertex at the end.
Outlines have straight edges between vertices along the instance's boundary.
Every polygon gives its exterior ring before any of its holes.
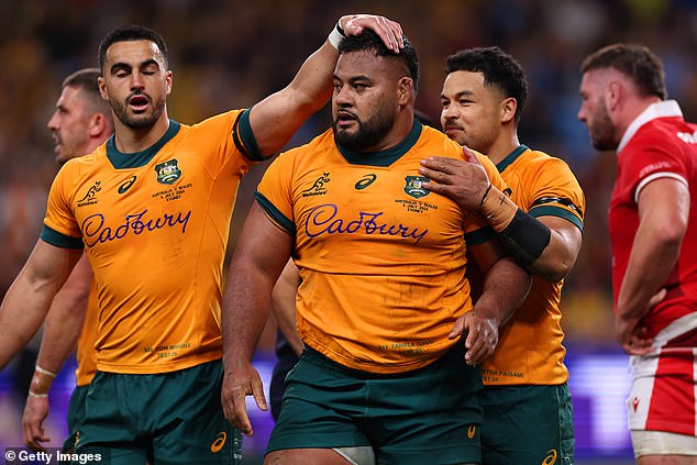
{"type": "Polygon", "coordinates": [[[230,220],[240,178],[261,159],[248,111],[233,110],[191,126],[170,121],[135,154],[119,153],[112,136],[64,165],[42,239],[88,255],[99,370],[166,373],[221,357],[230,220]]]}

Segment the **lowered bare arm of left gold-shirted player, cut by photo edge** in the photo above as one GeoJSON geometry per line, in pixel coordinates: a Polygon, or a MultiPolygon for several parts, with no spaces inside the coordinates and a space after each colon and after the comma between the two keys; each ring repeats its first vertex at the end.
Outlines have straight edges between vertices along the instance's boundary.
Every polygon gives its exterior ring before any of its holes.
{"type": "Polygon", "coordinates": [[[82,251],[38,240],[0,307],[0,368],[3,368],[44,322],[82,251]]]}

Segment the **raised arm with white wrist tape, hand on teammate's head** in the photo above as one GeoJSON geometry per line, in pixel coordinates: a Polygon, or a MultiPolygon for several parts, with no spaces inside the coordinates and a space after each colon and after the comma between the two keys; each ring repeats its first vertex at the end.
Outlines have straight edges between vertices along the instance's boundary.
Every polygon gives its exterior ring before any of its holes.
{"type": "Polygon", "coordinates": [[[250,124],[262,155],[279,151],[305,120],[319,111],[331,97],[341,34],[357,35],[367,27],[375,31],[389,48],[398,52],[403,46],[399,23],[384,16],[346,15],[339,20],[338,26],[341,30],[332,30],[324,44],[305,60],[286,88],[252,108],[250,124]]]}

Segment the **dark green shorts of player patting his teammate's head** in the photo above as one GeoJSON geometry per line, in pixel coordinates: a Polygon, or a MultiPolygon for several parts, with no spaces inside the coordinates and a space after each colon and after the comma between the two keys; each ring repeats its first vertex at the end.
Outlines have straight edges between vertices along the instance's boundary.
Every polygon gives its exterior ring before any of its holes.
{"type": "Polygon", "coordinates": [[[157,375],[97,372],[76,453],[111,465],[239,464],[242,438],[223,417],[221,361],[157,375]]]}

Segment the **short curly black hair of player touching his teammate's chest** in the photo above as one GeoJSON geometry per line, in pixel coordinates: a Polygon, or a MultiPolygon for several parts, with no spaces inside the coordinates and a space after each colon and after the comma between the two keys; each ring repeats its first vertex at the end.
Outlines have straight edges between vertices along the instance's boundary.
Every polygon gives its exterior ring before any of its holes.
{"type": "Polygon", "coordinates": [[[445,74],[455,71],[482,73],[486,86],[498,88],[506,98],[518,103],[513,117],[520,124],[528,101],[528,81],[522,66],[499,47],[465,48],[445,59],[445,74]]]}

